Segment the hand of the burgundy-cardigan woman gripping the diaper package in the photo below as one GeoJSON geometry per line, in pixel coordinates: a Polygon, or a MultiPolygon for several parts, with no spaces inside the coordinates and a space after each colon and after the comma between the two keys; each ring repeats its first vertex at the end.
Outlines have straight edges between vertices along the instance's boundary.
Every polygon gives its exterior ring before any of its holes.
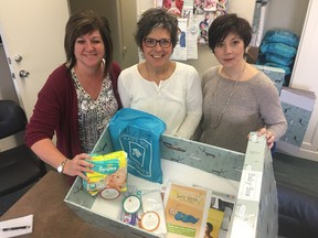
{"type": "Polygon", "coordinates": [[[64,165],[64,174],[71,175],[71,176],[81,176],[84,180],[88,180],[87,176],[85,176],[84,173],[92,173],[94,172],[92,167],[94,164],[85,161],[91,160],[91,156],[86,153],[77,154],[73,158],[73,160],[67,160],[67,162],[64,165]]]}

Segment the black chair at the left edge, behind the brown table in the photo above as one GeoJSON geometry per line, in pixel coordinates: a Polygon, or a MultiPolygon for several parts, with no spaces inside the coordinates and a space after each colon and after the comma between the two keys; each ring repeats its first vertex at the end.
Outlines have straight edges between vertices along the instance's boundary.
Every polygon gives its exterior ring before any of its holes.
{"type": "MultiPolygon", "coordinates": [[[[0,100],[0,141],[23,133],[26,122],[24,110],[15,101],[0,100]]],[[[44,162],[24,142],[0,150],[0,197],[31,186],[45,173],[44,162]]]]}

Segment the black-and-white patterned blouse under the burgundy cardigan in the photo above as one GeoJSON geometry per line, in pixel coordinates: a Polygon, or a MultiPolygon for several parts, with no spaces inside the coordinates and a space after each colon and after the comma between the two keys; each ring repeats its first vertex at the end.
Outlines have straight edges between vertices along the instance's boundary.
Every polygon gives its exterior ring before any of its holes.
{"type": "Polygon", "coordinates": [[[118,110],[118,102],[115,98],[109,74],[103,79],[98,98],[93,100],[78,82],[74,68],[71,72],[78,99],[81,145],[85,153],[91,153],[109,119],[118,110]]]}

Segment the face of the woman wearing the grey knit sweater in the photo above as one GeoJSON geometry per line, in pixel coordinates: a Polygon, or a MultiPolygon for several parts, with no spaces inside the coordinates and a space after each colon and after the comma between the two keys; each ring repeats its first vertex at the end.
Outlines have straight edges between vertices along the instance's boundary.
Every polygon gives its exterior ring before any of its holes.
{"type": "Polygon", "coordinates": [[[235,67],[244,61],[244,42],[233,33],[230,33],[214,47],[214,55],[224,67],[235,67]]]}

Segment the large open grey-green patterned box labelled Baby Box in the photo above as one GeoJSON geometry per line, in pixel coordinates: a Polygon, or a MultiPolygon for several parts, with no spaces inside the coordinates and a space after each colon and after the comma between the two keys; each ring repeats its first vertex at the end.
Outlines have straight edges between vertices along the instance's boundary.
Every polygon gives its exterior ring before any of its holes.
{"type": "MultiPolygon", "coordinates": [[[[225,195],[234,195],[235,206],[226,237],[276,237],[278,232],[278,202],[271,151],[264,137],[251,134],[246,154],[203,143],[161,136],[161,165],[163,184],[178,180],[184,184],[198,184],[225,195]]],[[[113,145],[108,130],[105,130],[94,152],[108,153],[113,145]]],[[[136,183],[128,175],[127,184],[136,183]]],[[[160,184],[149,184],[137,178],[139,185],[153,190],[160,184]]],[[[114,237],[156,237],[153,234],[132,227],[114,218],[112,209],[95,209],[99,196],[91,196],[77,177],[64,202],[85,221],[107,229],[114,237]]]]}

